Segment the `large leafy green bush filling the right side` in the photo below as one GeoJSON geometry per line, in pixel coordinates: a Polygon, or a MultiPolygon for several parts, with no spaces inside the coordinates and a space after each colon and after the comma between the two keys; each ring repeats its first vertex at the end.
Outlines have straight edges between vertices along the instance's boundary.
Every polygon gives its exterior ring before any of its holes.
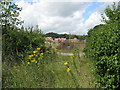
{"type": "Polygon", "coordinates": [[[88,57],[96,61],[98,86],[109,89],[119,88],[120,84],[120,31],[117,14],[118,9],[106,9],[110,20],[88,32],[88,42],[84,50],[88,57]]]}

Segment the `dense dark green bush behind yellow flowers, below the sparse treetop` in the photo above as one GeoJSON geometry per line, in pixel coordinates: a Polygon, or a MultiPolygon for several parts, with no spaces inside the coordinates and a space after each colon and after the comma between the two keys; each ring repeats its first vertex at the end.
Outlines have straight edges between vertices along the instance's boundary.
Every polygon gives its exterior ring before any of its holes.
{"type": "Polygon", "coordinates": [[[44,37],[40,30],[33,28],[13,28],[3,35],[3,60],[18,61],[25,53],[37,47],[44,48],[44,37]]]}

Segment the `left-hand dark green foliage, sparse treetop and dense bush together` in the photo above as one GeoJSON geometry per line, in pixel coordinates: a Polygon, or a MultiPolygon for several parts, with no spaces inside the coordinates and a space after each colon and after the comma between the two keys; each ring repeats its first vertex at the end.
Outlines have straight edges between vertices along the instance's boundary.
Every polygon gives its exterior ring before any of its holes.
{"type": "Polygon", "coordinates": [[[2,2],[2,39],[3,61],[19,62],[25,52],[37,47],[44,48],[44,36],[38,27],[18,28],[22,22],[18,19],[20,8],[11,2],[2,2]]]}

